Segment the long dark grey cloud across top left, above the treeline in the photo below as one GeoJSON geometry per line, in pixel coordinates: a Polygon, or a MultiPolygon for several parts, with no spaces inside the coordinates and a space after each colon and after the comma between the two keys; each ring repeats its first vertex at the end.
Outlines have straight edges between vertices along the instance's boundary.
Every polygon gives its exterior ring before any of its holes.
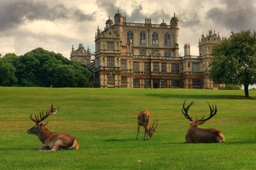
{"type": "Polygon", "coordinates": [[[86,15],[76,8],[62,4],[49,6],[42,1],[10,0],[0,1],[0,30],[10,29],[26,20],[93,20],[93,14],[86,15]]]}

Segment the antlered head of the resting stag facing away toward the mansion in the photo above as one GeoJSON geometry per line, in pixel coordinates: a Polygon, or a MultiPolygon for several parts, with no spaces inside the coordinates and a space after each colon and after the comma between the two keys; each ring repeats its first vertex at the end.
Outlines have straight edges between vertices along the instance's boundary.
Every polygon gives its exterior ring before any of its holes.
{"type": "Polygon", "coordinates": [[[191,121],[190,127],[198,127],[198,125],[204,124],[205,121],[210,120],[217,113],[217,106],[216,106],[216,104],[215,104],[215,107],[214,107],[213,104],[211,106],[209,103],[207,103],[209,108],[210,108],[210,115],[209,115],[209,117],[208,118],[202,117],[199,120],[197,120],[197,118],[196,118],[196,120],[193,120],[192,117],[190,117],[188,115],[188,110],[189,110],[190,106],[192,106],[194,104],[194,102],[191,102],[188,106],[185,107],[186,101],[187,101],[187,99],[184,101],[183,107],[182,107],[181,111],[182,111],[182,114],[184,115],[184,117],[187,118],[189,121],[191,121]]]}

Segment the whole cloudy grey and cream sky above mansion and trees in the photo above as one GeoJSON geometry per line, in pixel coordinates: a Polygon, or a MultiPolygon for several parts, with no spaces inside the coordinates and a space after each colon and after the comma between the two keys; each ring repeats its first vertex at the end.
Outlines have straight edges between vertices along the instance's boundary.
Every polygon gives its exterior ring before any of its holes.
{"type": "Polygon", "coordinates": [[[97,25],[104,29],[117,9],[127,22],[170,24],[173,13],[180,20],[179,46],[192,46],[198,55],[198,38],[210,29],[229,36],[230,31],[256,30],[255,0],[0,0],[0,53],[18,55],[37,47],[70,57],[79,43],[95,51],[97,25]]]}

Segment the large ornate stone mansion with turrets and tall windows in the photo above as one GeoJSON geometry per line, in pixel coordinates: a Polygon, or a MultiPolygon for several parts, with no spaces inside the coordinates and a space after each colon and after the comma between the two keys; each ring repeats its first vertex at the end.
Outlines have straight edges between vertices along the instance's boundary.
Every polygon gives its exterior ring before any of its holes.
{"type": "Polygon", "coordinates": [[[209,78],[212,46],[221,42],[215,31],[202,34],[199,56],[190,55],[189,44],[184,45],[184,56],[179,55],[179,19],[170,25],[163,20],[152,24],[127,22],[116,13],[114,21],[106,21],[104,31],[98,27],[95,35],[95,59],[83,44],[77,50],[72,46],[71,60],[86,64],[93,70],[92,87],[127,88],[186,88],[213,89],[209,78]]]}

